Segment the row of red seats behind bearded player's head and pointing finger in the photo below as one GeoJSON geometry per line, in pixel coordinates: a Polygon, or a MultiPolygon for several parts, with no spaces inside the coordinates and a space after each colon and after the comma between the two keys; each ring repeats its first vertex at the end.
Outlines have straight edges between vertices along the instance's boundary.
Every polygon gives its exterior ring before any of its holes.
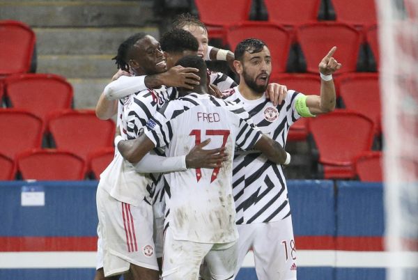
{"type": "Polygon", "coordinates": [[[294,42],[300,45],[307,64],[307,72],[318,72],[318,63],[333,46],[338,49],[334,54],[343,64],[339,73],[355,72],[359,50],[367,43],[378,65],[379,50],[377,26],[369,26],[363,32],[354,26],[334,22],[307,23],[297,26],[295,31],[288,31],[284,26],[270,22],[240,22],[226,26],[226,42],[230,49],[235,49],[246,38],[263,40],[272,55],[273,72],[286,72],[289,52],[294,42]]]}

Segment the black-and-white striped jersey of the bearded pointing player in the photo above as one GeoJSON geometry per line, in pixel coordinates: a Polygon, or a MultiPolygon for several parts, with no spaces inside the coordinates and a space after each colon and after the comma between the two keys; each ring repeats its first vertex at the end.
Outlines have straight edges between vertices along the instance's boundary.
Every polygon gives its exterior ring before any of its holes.
{"type": "MultiPolygon", "coordinates": [[[[246,100],[238,87],[227,94],[229,97],[226,100],[241,104],[263,134],[283,147],[286,145],[289,127],[300,118],[295,100],[301,93],[288,91],[284,102],[277,107],[265,95],[257,100],[246,100]]],[[[291,215],[281,165],[268,161],[261,153],[235,153],[233,196],[237,224],[278,221],[291,215]]]]}

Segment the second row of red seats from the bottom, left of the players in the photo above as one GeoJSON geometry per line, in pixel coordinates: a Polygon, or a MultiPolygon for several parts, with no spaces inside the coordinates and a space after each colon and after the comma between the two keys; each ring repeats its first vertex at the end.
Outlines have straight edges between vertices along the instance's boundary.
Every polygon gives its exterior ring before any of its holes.
{"type": "Polygon", "coordinates": [[[92,110],[62,110],[48,114],[46,122],[21,109],[0,109],[0,153],[10,159],[31,148],[40,148],[48,135],[49,146],[69,151],[84,160],[91,153],[112,147],[115,124],[99,120],[92,110]]]}

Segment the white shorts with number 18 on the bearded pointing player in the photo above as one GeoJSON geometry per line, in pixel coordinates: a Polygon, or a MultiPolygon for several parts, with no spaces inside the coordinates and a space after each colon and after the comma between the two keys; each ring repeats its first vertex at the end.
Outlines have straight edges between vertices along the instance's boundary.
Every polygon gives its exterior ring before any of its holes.
{"type": "Polygon", "coordinates": [[[270,223],[239,224],[238,265],[253,249],[258,279],[296,280],[296,249],[291,216],[270,223]]]}

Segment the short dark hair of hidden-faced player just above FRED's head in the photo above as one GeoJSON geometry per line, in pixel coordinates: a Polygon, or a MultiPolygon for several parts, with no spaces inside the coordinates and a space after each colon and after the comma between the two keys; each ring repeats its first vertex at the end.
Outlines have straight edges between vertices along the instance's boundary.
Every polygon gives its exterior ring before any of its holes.
{"type": "Polygon", "coordinates": [[[183,51],[197,52],[199,42],[189,31],[183,29],[171,29],[164,33],[160,39],[160,45],[164,52],[181,53],[183,51]]]}

